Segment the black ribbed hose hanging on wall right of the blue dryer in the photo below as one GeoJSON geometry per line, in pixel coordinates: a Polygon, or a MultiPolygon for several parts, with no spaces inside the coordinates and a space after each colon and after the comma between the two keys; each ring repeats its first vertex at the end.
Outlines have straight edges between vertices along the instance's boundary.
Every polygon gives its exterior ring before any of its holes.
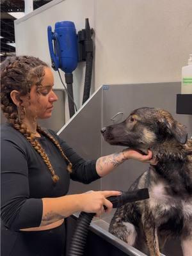
{"type": "Polygon", "coordinates": [[[93,53],[87,52],[86,70],[85,70],[85,77],[84,77],[83,104],[90,97],[90,89],[91,89],[91,83],[92,83],[92,67],[93,67],[93,53]]]}

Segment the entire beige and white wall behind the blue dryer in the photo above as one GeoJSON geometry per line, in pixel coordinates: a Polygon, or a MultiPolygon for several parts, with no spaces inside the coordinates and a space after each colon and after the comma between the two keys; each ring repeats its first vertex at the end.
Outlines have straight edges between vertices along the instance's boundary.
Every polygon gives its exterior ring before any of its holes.
{"type": "MultiPolygon", "coordinates": [[[[95,29],[93,88],[102,84],[180,81],[192,53],[191,0],[54,0],[15,22],[17,54],[50,63],[47,26],[84,19],[95,29]]],[[[62,88],[54,72],[56,88],[62,88]]],[[[84,63],[74,72],[74,97],[81,105],[84,63]]],[[[66,108],[67,109],[67,108],[66,108]]]]}

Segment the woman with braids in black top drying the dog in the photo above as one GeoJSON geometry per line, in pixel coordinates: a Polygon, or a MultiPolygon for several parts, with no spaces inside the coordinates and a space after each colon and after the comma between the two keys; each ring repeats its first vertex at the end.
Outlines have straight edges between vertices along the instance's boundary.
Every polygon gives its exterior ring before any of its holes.
{"type": "Polygon", "coordinates": [[[66,195],[70,179],[88,184],[126,159],[153,163],[152,153],[134,150],[84,161],[55,132],[37,125],[49,118],[58,99],[46,63],[31,56],[6,58],[1,65],[2,256],[65,255],[64,219],[74,212],[112,209],[119,191],[66,195]]]}

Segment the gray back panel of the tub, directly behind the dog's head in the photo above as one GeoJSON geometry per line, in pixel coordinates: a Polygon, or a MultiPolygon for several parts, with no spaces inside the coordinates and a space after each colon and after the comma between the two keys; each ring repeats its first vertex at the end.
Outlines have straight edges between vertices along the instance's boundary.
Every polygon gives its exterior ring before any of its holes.
{"type": "MultiPolygon", "coordinates": [[[[163,108],[179,122],[188,127],[192,134],[192,116],[176,114],[176,95],[180,93],[180,83],[151,83],[130,84],[118,86],[103,86],[102,90],[102,125],[113,124],[110,120],[116,113],[122,111],[123,116],[118,117],[118,122],[123,121],[132,110],[141,107],[163,108]]],[[[122,147],[111,146],[102,140],[102,155],[122,150],[122,147]]],[[[132,182],[145,170],[147,164],[127,161],[118,166],[116,170],[102,179],[102,189],[126,190],[132,182]]]]}

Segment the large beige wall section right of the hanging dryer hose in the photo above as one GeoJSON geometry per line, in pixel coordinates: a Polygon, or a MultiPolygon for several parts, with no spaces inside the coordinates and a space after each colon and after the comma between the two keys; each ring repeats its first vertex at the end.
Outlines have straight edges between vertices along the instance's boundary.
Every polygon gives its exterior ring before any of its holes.
{"type": "Polygon", "coordinates": [[[191,0],[96,0],[95,86],[180,81],[191,13],[191,0]]]}

